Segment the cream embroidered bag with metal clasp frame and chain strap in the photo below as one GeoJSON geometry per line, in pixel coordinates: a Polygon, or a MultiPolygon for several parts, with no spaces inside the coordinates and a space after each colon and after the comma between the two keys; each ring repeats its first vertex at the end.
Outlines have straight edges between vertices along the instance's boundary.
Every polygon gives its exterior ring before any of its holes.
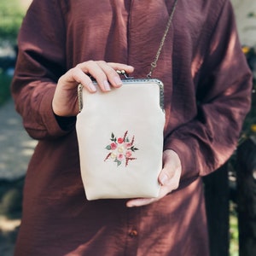
{"type": "MultiPolygon", "coordinates": [[[[87,200],[157,197],[165,125],[164,84],[151,79],[176,7],[147,79],[91,94],[79,85],[76,130],[87,200]]],[[[123,73],[123,72],[119,72],[123,73]]],[[[125,74],[125,73],[123,73],[125,74]]],[[[97,85],[96,85],[97,86],[97,85]]]]}

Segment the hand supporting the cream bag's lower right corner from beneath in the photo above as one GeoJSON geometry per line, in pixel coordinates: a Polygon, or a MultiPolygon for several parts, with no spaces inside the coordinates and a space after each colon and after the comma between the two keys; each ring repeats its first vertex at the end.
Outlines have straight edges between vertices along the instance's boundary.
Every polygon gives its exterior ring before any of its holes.
{"type": "Polygon", "coordinates": [[[160,183],[160,194],[156,198],[138,198],[127,201],[127,207],[142,207],[159,201],[172,190],[177,189],[179,180],[181,177],[182,166],[180,159],[176,152],[171,149],[167,149],[163,154],[164,167],[160,172],[159,183],[160,183]]]}

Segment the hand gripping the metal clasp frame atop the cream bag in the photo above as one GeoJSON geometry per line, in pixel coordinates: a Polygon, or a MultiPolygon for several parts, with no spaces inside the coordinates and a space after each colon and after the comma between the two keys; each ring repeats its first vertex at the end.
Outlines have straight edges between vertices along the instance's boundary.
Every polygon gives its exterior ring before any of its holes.
{"type": "Polygon", "coordinates": [[[78,84],[83,84],[91,93],[96,92],[90,76],[96,79],[102,91],[111,90],[111,86],[116,88],[121,86],[122,82],[116,70],[132,73],[134,68],[121,63],[85,61],[68,70],[59,79],[55,90],[52,101],[54,113],[63,117],[76,116],[79,113],[78,84]]]}

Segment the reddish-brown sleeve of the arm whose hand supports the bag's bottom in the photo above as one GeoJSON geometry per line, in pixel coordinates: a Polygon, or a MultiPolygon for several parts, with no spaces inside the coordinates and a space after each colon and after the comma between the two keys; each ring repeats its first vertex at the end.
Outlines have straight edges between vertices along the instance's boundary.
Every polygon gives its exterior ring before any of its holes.
{"type": "Polygon", "coordinates": [[[209,48],[195,74],[197,115],[166,138],[165,148],[172,148],[181,158],[184,179],[207,175],[229,159],[250,108],[252,76],[230,2],[223,2],[209,48]]]}

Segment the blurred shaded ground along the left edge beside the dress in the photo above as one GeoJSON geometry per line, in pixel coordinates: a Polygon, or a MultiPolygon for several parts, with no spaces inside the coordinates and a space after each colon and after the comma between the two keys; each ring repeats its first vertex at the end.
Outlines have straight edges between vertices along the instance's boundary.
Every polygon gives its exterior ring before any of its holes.
{"type": "Polygon", "coordinates": [[[14,255],[26,166],[36,141],[28,137],[10,99],[0,108],[0,255],[14,255]]]}

